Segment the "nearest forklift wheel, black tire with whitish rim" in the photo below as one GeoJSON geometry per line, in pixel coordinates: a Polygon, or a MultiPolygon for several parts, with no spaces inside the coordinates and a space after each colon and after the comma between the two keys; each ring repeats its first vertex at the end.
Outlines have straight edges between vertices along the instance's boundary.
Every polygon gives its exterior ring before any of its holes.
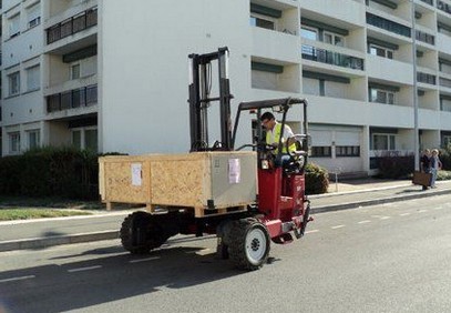
{"type": "Polygon", "coordinates": [[[268,260],[270,239],[266,226],[248,218],[233,222],[229,232],[228,253],[240,270],[255,271],[268,260]]]}

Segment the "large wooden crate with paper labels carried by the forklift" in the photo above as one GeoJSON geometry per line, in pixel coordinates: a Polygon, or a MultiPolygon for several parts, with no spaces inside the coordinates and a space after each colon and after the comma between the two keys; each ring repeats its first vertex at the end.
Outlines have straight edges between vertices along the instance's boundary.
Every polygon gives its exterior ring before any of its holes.
{"type": "Polygon", "coordinates": [[[203,216],[243,208],[256,199],[255,152],[114,155],[100,158],[99,163],[100,193],[109,208],[114,202],[142,203],[150,210],[182,206],[203,216]],[[230,164],[238,164],[238,181],[230,176],[230,164]]]}

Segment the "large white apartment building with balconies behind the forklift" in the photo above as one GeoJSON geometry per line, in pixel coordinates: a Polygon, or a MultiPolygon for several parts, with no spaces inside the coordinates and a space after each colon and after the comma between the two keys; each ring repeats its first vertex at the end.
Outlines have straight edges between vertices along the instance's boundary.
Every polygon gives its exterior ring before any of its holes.
{"type": "Polygon", "coordinates": [[[311,156],[330,172],[368,174],[385,153],[451,142],[450,0],[2,2],[3,155],[188,151],[187,55],[219,47],[233,111],[307,98],[311,156]]]}

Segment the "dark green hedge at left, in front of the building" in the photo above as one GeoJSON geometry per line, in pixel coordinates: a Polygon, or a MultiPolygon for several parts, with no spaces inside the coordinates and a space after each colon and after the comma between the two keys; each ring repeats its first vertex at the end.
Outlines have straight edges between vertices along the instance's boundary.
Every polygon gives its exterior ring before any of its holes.
{"type": "Polygon", "coordinates": [[[1,158],[0,194],[99,199],[98,154],[40,148],[1,158]]]}

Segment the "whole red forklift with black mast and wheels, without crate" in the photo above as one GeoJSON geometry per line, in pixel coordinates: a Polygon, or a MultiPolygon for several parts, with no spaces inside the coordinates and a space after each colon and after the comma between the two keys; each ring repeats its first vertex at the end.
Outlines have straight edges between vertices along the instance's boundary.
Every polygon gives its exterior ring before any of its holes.
{"type": "MultiPolygon", "coordinates": [[[[195,216],[189,210],[162,208],[161,212],[134,212],[125,218],[121,228],[121,241],[131,253],[147,253],[161,246],[176,234],[217,235],[217,255],[229,259],[242,270],[257,270],[267,262],[270,241],[277,244],[300,239],[310,218],[310,203],[305,194],[305,166],[308,160],[309,137],[307,123],[307,101],[285,98],[242,102],[238,105],[235,123],[232,123],[228,80],[228,49],[221,48],[213,53],[191,54],[189,83],[189,125],[191,153],[227,152],[249,149],[257,155],[258,193],[254,203],[242,211],[195,216]],[[218,97],[212,97],[212,63],[217,61],[218,97]],[[219,105],[221,140],[209,143],[208,109],[219,105]],[[300,110],[301,133],[295,135],[296,150],[283,149],[277,152],[265,142],[265,133],[259,125],[264,111],[280,115],[279,122],[286,124],[287,113],[298,107],[300,110]],[[254,138],[250,143],[235,148],[242,112],[255,117],[254,138]],[[232,127],[233,125],[233,127],[232,127]],[[284,156],[285,155],[285,156],[284,156]],[[281,161],[284,158],[284,162],[281,161]]],[[[283,147],[280,134],[279,147],[283,147]]]]}

